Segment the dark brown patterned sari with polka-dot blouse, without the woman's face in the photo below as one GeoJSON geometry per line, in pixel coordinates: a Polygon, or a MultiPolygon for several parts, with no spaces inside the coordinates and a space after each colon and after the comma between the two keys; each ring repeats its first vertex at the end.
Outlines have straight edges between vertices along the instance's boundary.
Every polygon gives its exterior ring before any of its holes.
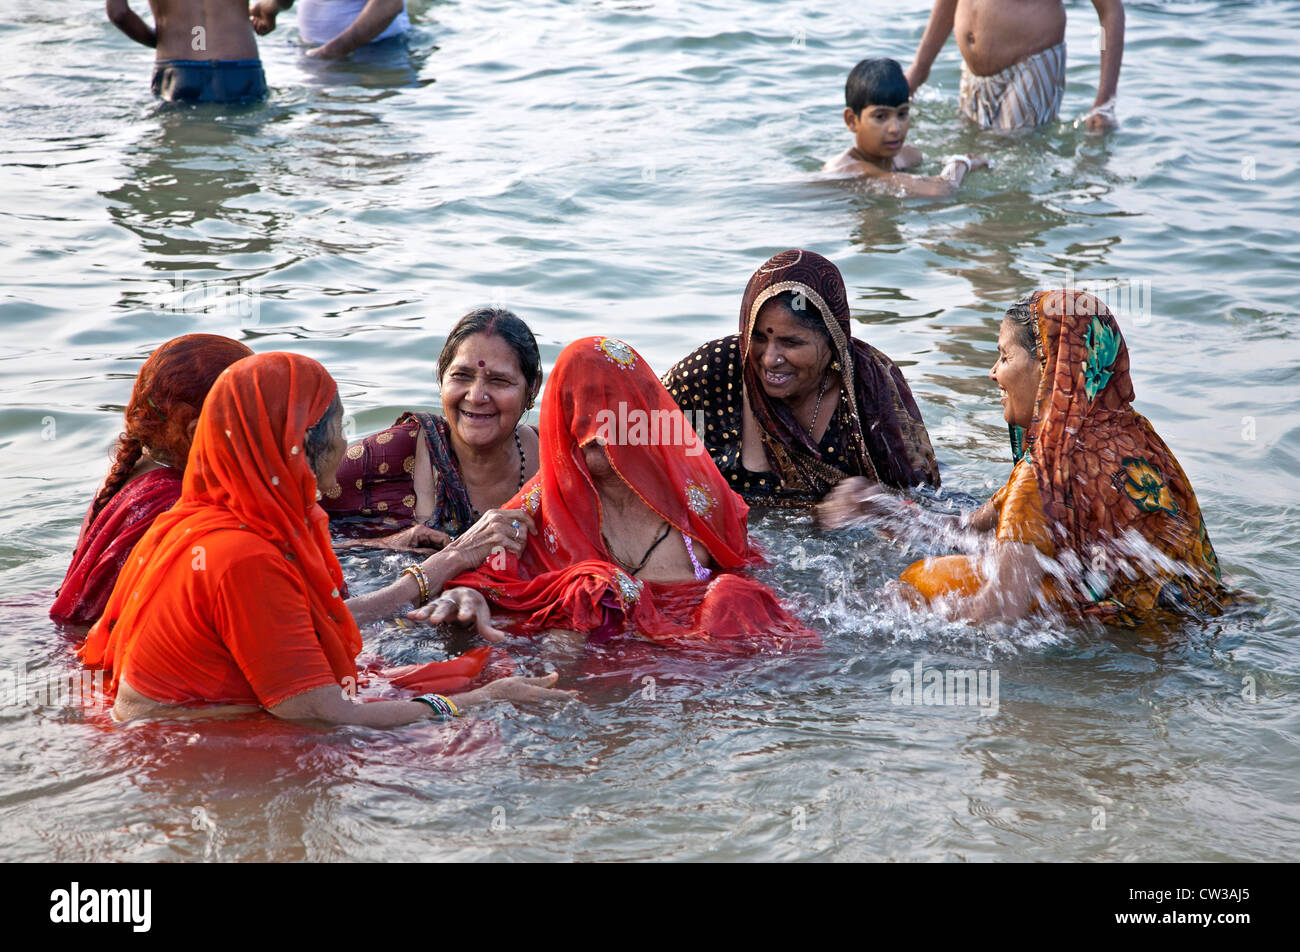
{"type": "Polygon", "coordinates": [[[939,464],[907,381],[893,360],[853,337],[840,269],[811,251],[768,259],[745,287],[740,334],[697,349],[663,384],[688,417],[702,424],[710,455],[748,502],[812,505],[849,476],[894,488],[939,485],[939,464]],[[784,402],[767,395],[749,360],[758,312],[785,291],[815,308],[835,351],[831,373],[840,402],[820,442],[784,402]],[[758,421],[768,472],[750,472],[741,463],[745,401],[758,421]]]}

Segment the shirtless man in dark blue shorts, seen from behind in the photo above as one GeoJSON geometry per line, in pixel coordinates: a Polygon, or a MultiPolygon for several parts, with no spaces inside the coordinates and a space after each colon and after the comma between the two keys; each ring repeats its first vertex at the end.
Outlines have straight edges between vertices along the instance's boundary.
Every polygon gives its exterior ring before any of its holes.
{"type": "MultiPolygon", "coordinates": [[[[294,0],[270,0],[287,10],[294,0]]],[[[266,75],[248,0],[150,0],[151,27],[127,0],[105,0],[113,25],[157,49],[153,95],[169,103],[251,103],[265,98],[266,75]]]]}

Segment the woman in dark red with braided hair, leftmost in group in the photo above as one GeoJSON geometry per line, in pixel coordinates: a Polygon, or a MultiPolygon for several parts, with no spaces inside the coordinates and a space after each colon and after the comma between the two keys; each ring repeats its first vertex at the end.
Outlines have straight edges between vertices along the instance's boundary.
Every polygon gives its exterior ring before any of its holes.
{"type": "Polygon", "coordinates": [[[140,536],[181,498],[199,410],[217,375],[252,354],[216,334],[168,341],[144,362],[117,456],[82,520],[77,549],[49,616],[88,626],[104,611],[117,574],[140,536]]]}

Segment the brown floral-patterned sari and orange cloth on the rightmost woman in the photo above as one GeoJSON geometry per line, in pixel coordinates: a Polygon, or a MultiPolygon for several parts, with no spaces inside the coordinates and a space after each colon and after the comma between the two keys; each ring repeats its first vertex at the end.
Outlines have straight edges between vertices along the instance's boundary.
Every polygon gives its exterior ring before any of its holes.
{"type": "MultiPolygon", "coordinates": [[[[1037,291],[1032,308],[1043,377],[1031,424],[1011,432],[997,540],[1053,558],[1043,598],[1083,615],[1134,627],[1217,614],[1231,593],[1187,475],[1132,408],[1114,316],[1083,291],[1037,291]]],[[[983,584],[962,555],[918,562],[902,580],[927,597],[983,584]]]]}

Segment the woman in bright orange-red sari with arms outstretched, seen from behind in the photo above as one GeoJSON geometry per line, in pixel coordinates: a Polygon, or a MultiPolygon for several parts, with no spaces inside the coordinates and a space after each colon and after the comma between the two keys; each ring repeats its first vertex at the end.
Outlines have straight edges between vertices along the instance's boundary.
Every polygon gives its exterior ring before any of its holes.
{"type": "Polygon", "coordinates": [[[390,727],[494,697],[563,694],[547,691],[554,678],[508,678],[451,698],[350,700],[358,622],[422,603],[445,574],[437,576],[436,555],[425,563],[433,579],[416,566],[344,602],[316,503],[347,445],[342,416],[334,381],[309,358],[260,354],[221,373],[179,502],[135,546],[79,652],[109,674],[118,719],[264,707],[390,727]]]}

